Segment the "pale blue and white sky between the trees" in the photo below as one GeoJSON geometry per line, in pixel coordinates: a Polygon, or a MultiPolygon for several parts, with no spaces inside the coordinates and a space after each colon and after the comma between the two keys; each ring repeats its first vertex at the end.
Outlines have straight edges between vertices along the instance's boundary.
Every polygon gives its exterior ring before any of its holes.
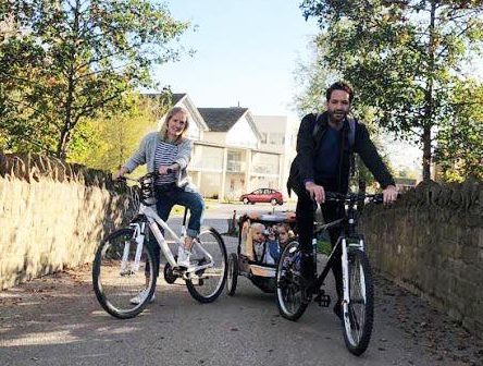
{"type": "Polygon", "coordinates": [[[318,33],[298,0],[170,0],[172,15],[196,32],[181,37],[193,48],[178,62],[156,69],[156,80],[187,93],[197,107],[248,107],[253,114],[295,115],[294,70],[309,57],[318,33]]]}

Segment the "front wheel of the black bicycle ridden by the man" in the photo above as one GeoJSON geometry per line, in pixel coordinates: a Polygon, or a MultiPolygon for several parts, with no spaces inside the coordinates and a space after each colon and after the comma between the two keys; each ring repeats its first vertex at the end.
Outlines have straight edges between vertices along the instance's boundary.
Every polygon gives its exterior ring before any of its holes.
{"type": "Polygon", "coordinates": [[[374,289],[366,252],[352,248],[347,256],[349,303],[343,305],[344,340],[347,349],[359,356],[371,339],[374,289]]]}

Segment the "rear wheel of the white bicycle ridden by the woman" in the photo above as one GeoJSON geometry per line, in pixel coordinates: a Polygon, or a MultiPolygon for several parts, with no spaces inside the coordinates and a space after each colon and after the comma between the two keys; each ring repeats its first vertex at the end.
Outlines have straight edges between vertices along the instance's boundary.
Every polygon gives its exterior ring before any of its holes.
{"type": "MultiPolygon", "coordinates": [[[[227,259],[223,239],[213,228],[202,228],[198,242],[212,257],[212,266],[195,272],[196,278],[186,281],[189,294],[200,303],[211,303],[220,296],[226,281],[227,259]]],[[[191,260],[198,266],[209,263],[209,258],[196,247],[191,260]]]]}

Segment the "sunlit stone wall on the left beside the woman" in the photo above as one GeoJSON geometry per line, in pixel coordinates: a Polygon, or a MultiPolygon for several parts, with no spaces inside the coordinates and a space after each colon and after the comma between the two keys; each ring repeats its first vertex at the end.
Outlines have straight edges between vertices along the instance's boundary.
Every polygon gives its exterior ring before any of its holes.
{"type": "Polygon", "coordinates": [[[91,261],[129,211],[126,192],[101,171],[0,155],[0,290],[91,261]]]}

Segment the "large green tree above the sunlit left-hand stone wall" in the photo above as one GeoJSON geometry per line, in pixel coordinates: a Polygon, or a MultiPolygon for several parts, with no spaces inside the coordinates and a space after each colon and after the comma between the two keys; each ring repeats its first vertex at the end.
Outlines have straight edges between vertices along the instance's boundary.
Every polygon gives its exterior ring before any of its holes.
{"type": "Polygon", "coordinates": [[[82,121],[120,111],[126,91],[154,86],[151,66],[178,57],[172,41],[188,27],[147,0],[10,0],[0,19],[7,145],[62,159],[82,121]]]}

